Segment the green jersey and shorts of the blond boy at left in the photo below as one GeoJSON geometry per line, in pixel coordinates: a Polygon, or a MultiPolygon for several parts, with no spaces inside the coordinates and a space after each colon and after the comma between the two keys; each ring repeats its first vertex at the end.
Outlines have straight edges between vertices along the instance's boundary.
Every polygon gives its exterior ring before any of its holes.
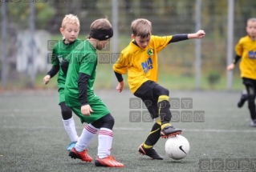
{"type": "Polygon", "coordinates": [[[59,90],[59,103],[65,101],[64,87],[66,82],[66,76],[63,74],[63,70],[60,66],[61,62],[64,59],[66,59],[67,55],[70,54],[71,51],[75,49],[75,46],[79,45],[80,42],[82,42],[80,39],[75,39],[75,42],[71,42],[67,45],[64,43],[64,41],[60,41],[55,44],[52,50],[51,64],[53,66],[59,66],[59,74],[57,78],[59,90]]]}

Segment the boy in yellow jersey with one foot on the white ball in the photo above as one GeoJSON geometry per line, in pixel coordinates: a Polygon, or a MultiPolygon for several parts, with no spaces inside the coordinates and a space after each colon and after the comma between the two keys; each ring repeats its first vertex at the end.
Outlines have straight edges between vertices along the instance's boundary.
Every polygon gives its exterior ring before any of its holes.
{"type": "Polygon", "coordinates": [[[168,138],[181,134],[170,124],[171,112],[169,110],[169,90],[157,84],[157,53],[163,50],[169,43],[179,42],[189,38],[203,38],[205,32],[197,31],[195,34],[177,34],[173,36],[152,35],[151,22],[139,18],[132,22],[132,42],[122,50],[120,57],[113,66],[116,78],[119,82],[116,90],[121,92],[124,88],[122,74],[128,72],[128,85],[132,94],[141,98],[152,118],[160,117],[152,126],[146,141],[140,145],[139,153],[151,158],[163,159],[153,146],[160,137],[168,138]]]}

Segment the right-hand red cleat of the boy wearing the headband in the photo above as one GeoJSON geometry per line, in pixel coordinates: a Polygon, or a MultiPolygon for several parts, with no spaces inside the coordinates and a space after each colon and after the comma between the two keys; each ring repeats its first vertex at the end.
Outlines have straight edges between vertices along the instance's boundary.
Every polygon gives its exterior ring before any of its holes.
{"type": "Polygon", "coordinates": [[[124,164],[117,162],[116,158],[109,156],[107,158],[95,159],[95,166],[108,166],[108,167],[124,167],[124,164]]]}

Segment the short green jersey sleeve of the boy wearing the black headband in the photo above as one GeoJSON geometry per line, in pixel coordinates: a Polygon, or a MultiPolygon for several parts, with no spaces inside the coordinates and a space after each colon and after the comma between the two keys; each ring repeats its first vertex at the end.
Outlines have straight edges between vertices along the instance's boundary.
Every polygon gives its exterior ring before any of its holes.
{"type": "Polygon", "coordinates": [[[87,74],[91,76],[92,72],[95,70],[97,64],[97,55],[96,54],[86,54],[81,61],[79,68],[79,73],[87,74]]]}

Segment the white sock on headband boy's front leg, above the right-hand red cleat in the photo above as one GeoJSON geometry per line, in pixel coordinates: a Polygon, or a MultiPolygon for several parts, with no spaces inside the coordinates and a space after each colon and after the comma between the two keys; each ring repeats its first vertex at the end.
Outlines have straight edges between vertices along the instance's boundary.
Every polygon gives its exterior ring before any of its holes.
{"type": "Polygon", "coordinates": [[[98,157],[106,158],[110,155],[112,148],[113,132],[107,128],[100,128],[99,132],[98,157]]]}

